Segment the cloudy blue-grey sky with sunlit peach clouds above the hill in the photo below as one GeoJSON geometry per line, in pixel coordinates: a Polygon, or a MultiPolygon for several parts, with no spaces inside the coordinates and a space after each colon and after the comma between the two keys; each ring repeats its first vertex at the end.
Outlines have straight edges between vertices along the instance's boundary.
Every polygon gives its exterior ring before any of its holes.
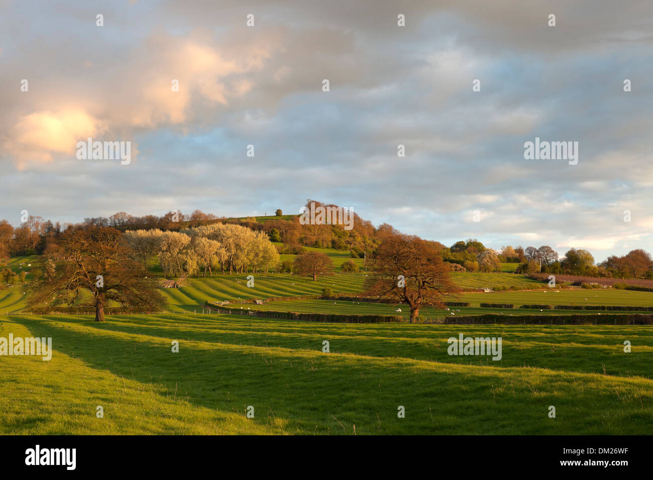
{"type": "Polygon", "coordinates": [[[0,218],[315,199],[445,245],[653,251],[652,47],[650,0],[0,0],[0,218]]]}

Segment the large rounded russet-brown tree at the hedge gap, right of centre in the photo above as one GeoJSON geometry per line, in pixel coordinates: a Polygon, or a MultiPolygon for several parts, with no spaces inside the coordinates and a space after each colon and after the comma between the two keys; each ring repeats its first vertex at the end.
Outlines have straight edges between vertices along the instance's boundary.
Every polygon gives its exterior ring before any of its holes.
{"type": "Polygon", "coordinates": [[[406,303],[411,322],[417,320],[422,305],[441,307],[443,298],[460,293],[440,249],[418,236],[390,234],[370,263],[372,274],[364,283],[366,295],[406,303]]]}

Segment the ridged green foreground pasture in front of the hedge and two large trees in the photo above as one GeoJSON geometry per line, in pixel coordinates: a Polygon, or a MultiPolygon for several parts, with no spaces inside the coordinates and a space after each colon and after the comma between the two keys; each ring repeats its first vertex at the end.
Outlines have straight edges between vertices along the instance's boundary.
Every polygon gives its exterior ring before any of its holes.
{"type": "Polygon", "coordinates": [[[5,434],[649,434],[653,425],[650,327],[3,316],[0,336],[9,333],[52,337],[54,353],[0,357],[5,434]],[[447,355],[458,333],[501,336],[502,360],[447,355]]]}

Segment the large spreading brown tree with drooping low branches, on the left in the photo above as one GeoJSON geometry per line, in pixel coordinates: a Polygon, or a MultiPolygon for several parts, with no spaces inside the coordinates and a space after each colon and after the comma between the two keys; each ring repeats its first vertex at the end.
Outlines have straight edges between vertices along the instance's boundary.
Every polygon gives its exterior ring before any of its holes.
{"type": "Polygon", "coordinates": [[[122,306],[139,306],[143,310],[163,308],[163,296],[153,280],[140,277],[140,265],[134,252],[122,241],[121,233],[112,228],[72,228],[59,240],[65,260],[52,280],[35,281],[30,303],[74,304],[80,291],[89,291],[95,307],[95,321],[104,321],[108,301],[122,306]],[[54,298],[54,301],[53,301],[54,298]]]}

